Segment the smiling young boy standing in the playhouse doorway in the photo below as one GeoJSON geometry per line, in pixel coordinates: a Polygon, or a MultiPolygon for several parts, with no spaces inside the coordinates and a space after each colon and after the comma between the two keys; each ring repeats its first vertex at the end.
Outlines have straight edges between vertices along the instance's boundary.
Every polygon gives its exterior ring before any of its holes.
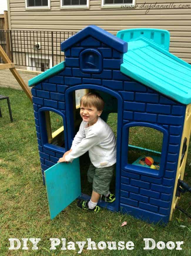
{"type": "Polygon", "coordinates": [[[93,191],[89,201],[80,200],[77,206],[89,211],[98,212],[97,206],[100,196],[106,202],[112,203],[115,195],[109,191],[116,163],[116,140],[109,125],[100,115],[104,101],[97,93],[88,93],[81,98],[81,122],[78,133],[73,139],[71,149],[58,162],[72,162],[73,159],[89,151],[91,160],[88,169],[88,182],[93,183],[93,191]]]}

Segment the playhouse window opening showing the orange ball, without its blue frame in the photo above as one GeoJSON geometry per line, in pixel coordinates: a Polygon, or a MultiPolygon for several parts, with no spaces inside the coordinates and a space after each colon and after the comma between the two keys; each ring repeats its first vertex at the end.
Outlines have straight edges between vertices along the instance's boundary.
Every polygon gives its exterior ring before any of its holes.
{"type": "Polygon", "coordinates": [[[163,133],[154,128],[129,128],[128,164],[160,169],[163,133]]]}

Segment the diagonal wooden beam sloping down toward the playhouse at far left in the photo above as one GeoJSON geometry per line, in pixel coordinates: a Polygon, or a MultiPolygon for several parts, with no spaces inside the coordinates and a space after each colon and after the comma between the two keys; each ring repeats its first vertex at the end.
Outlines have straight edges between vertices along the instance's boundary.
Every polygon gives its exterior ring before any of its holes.
{"type": "MultiPolygon", "coordinates": [[[[0,45],[0,56],[3,59],[4,63],[11,63],[9,57],[6,55],[5,51],[3,50],[3,48],[0,45]]],[[[14,77],[16,78],[16,81],[20,84],[21,88],[24,90],[24,92],[26,93],[27,97],[29,97],[30,101],[33,102],[32,100],[32,94],[29,91],[28,87],[26,86],[24,80],[22,79],[22,77],[19,75],[19,73],[17,72],[16,68],[11,68],[10,69],[11,73],[14,75],[14,77]]]]}

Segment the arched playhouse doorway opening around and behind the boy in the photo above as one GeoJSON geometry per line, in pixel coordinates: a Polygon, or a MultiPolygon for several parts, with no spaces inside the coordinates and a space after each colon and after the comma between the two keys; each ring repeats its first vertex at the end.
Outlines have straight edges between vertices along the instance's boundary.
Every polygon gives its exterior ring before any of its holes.
{"type": "MultiPolygon", "coordinates": [[[[74,136],[76,135],[76,133],[79,130],[79,126],[82,122],[81,116],[80,116],[80,100],[79,97],[77,98],[76,96],[81,95],[81,97],[88,93],[88,92],[96,92],[99,93],[100,96],[103,98],[104,102],[105,102],[105,106],[104,106],[104,110],[103,113],[101,114],[100,118],[102,118],[106,123],[108,123],[108,125],[110,126],[110,128],[112,129],[112,131],[115,134],[115,138],[116,138],[116,142],[117,142],[117,149],[120,147],[118,146],[119,141],[118,141],[118,132],[119,129],[121,127],[119,127],[118,125],[118,99],[117,97],[115,97],[114,95],[101,91],[100,87],[98,86],[91,86],[91,87],[86,87],[86,85],[84,85],[83,89],[80,89],[80,91],[78,90],[73,90],[70,93],[68,93],[68,107],[69,109],[73,110],[70,111],[70,123],[71,123],[71,133],[73,131],[73,134],[71,134],[71,141],[69,141],[69,145],[71,145],[71,142],[74,138],[74,136]],[[93,87],[93,88],[91,88],[93,87]],[[98,87],[95,89],[95,87],[98,87]]],[[[78,86],[79,88],[79,86],[78,86]]],[[[78,89],[76,88],[76,89],[78,89]]],[[[73,88],[74,89],[74,88],[73,88]]],[[[121,102],[122,103],[122,102],[121,102]]],[[[120,117],[120,120],[122,119],[122,117],[120,117]]],[[[121,122],[120,122],[121,124],[121,122]]],[[[121,125],[120,125],[121,126],[121,125]]],[[[69,135],[69,134],[68,134],[69,135]]],[[[119,136],[120,138],[120,136],[119,136]]],[[[70,149],[70,146],[69,146],[70,149]]],[[[102,201],[99,201],[99,205],[102,207],[107,207],[110,210],[115,210],[118,211],[119,210],[119,185],[118,180],[119,180],[119,164],[120,163],[120,154],[118,154],[117,156],[117,163],[116,163],[116,171],[113,175],[113,179],[110,183],[110,191],[111,193],[115,194],[116,200],[113,203],[105,203],[102,201]],[[117,189],[116,189],[117,187],[117,189]]],[[[89,164],[90,164],[90,159],[89,159],[89,155],[88,152],[86,152],[84,155],[82,155],[80,157],[80,172],[81,172],[81,191],[82,191],[82,198],[84,199],[89,199],[91,198],[91,193],[92,193],[92,184],[88,182],[87,180],[87,171],[89,168],[89,164]]]]}

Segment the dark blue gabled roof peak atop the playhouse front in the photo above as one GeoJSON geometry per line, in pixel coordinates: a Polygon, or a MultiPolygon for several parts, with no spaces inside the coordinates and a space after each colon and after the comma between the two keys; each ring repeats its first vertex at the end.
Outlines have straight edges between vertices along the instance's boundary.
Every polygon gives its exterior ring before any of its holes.
{"type": "Polygon", "coordinates": [[[109,45],[110,47],[118,50],[121,53],[127,52],[127,42],[95,25],[85,27],[83,30],[79,31],[72,37],[68,38],[66,41],[62,42],[61,51],[65,51],[72,45],[78,43],[84,38],[87,38],[88,36],[100,40],[102,43],[109,45]]]}

